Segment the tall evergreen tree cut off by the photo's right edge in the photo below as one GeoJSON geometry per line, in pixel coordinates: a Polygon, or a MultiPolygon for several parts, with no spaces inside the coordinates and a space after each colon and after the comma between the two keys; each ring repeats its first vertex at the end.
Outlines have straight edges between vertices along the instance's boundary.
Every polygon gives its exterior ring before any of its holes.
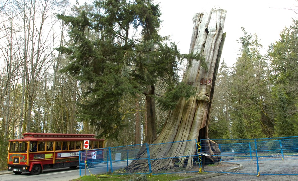
{"type": "Polygon", "coordinates": [[[297,135],[298,121],[298,21],[280,34],[270,46],[275,136],[297,135]],[[294,129],[296,128],[296,129],[294,129]]]}

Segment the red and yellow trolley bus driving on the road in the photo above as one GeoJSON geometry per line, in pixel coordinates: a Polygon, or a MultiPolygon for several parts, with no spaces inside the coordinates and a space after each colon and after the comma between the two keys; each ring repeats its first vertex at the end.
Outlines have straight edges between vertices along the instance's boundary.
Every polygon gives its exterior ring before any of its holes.
{"type": "Polygon", "coordinates": [[[24,133],[22,139],[9,140],[7,168],[15,174],[37,175],[44,169],[79,166],[84,140],[89,149],[103,148],[104,140],[93,134],[24,133]]]}

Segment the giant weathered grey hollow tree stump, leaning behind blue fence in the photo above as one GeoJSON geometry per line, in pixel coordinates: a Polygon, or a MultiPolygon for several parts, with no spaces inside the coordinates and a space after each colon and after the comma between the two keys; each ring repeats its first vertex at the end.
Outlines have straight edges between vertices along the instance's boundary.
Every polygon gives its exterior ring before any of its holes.
{"type": "MultiPolygon", "coordinates": [[[[193,60],[192,65],[188,65],[183,82],[189,86],[194,86],[197,94],[188,100],[181,98],[175,107],[168,123],[160,133],[160,136],[154,143],[168,143],[183,140],[198,139],[200,130],[202,135],[208,137],[207,117],[210,109],[210,95],[212,84],[214,84],[214,73],[216,74],[220,59],[220,44],[222,42],[223,27],[226,11],[211,10],[209,12],[196,14],[193,17],[193,33],[190,45],[190,52],[202,53],[208,66],[208,71],[200,66],[200,62],[193,60]],[[215,70],[216,69],[216,70],[215,70]],[[203,129],[202,129],[203,128],[203,129]]],[[[222,46],[221,46],[222,47],[222,46]]],[[[206,151],[213,154],[213,151],[219,151],[210,148],[206,151]]],[[[160,144],[150,150],[150,158],[181,157],[180,166],[188,155],[196,153],[196,145],[190,142],[179,142],[172,144],[160,144]]],[[[147,153],[141,157],[146,158],[147,153]]],[[[192,167],[192,157],[188,158],[187,168],[192,167]]],[[[152,171],[170,169],[174,167],[170,159],[151,160],[152,171]]],[[[144,160],[143,160],[144,161],[144,160]]],[[[142,160],[134,160],[128,170],[142,168],[142,160]]]]}

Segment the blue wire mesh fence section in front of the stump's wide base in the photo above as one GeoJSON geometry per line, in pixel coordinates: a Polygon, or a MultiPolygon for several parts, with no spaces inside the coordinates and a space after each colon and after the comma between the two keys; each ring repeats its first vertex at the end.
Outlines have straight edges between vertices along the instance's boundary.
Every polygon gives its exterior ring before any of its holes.
{"type": "Polygon", "coordinates": [[[196,140],[186,140],[80,151],[80,176],[106,172],[112,174],[198,172],[200,161],[196,152],[192,154],[185,154],[187,150],[182,154],[169,152],[170,149],[186,148],[187,145],[196,149],[196,143],[196,140]]]}

